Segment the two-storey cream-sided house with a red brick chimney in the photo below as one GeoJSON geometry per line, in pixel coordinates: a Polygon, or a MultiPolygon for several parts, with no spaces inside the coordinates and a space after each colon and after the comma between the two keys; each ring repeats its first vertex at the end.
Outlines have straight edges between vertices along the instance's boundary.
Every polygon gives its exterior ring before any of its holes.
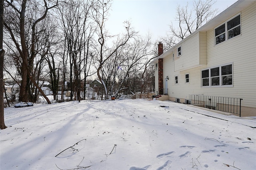
{"type": "Polygon", "coordinates": [[[166,94],[174,102],[222,111],[232,107],[228,112],[256,116],[255,9],[255,0],[238,0],[165,53],[160,42],[159,57],[152,61],[156,94],[166,94]],[[201,98],[202,103],[195,104],[201,98]]]}

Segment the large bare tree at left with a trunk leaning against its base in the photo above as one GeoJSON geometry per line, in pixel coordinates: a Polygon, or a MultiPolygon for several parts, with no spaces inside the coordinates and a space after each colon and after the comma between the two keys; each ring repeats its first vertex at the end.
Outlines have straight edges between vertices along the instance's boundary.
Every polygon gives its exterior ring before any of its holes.
{"type": "Polygon", "coordinates": [[[48,2],[44,0],[42,3],[34,0],[22,0],[22,2],[5,0],[5,2],[7,4],[8,15],[6,15],[4,20],[4,26],[8,30],[9,38],[13,41],[22,59],[20,69],[22,82],[19,100],[23,102],[31,100],[31,98],[28,98],[30,79],[44,98],[46,98],[47,102],[50,103],[50,100],[44,95],[44,92],[33,78],[34,58],[36,57],[36,35],[40,33],[36,31],[36,26],[40,21],[44,20],[48,10],[57,6],[58,0],[56,3],[51,0],[48,2]],[[48,4],[52,5],[49,7],[48,4]],[[34,15],[30,17],[29,14],[34,15]]]}

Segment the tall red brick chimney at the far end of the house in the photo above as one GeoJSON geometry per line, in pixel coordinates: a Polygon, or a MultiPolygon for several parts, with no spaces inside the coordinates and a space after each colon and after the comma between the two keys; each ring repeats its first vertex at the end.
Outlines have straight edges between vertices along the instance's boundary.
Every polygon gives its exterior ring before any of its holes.
{"type": "MultiPolygon", "coordinates": [[[[158,44],[158,56],[163,53],[163,44],[158,44]]],[[[158,59],[158,92],[160,95],[164,94],[164,74],[163,74],[163,59],[158,59]]]]}

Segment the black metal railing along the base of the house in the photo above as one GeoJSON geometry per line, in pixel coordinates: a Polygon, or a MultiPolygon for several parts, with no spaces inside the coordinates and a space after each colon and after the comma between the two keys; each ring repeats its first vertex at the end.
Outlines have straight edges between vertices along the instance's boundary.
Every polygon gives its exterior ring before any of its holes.
{"type": "Polygon", "coordinates": [[[203,94],[190,94],[190,104],[208,109],[239,114],[241,117],[241,98],[204,96],[203,94]]]}

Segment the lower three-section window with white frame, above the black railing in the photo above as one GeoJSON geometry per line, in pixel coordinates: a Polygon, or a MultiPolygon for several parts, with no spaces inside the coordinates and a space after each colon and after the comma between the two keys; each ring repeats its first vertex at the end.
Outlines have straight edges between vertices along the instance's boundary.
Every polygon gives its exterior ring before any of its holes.
{"type": "Polygon", "coordinates": [[[201,70],[202,87],[232,86],[232,70],[232,64],[201,70]]]}

